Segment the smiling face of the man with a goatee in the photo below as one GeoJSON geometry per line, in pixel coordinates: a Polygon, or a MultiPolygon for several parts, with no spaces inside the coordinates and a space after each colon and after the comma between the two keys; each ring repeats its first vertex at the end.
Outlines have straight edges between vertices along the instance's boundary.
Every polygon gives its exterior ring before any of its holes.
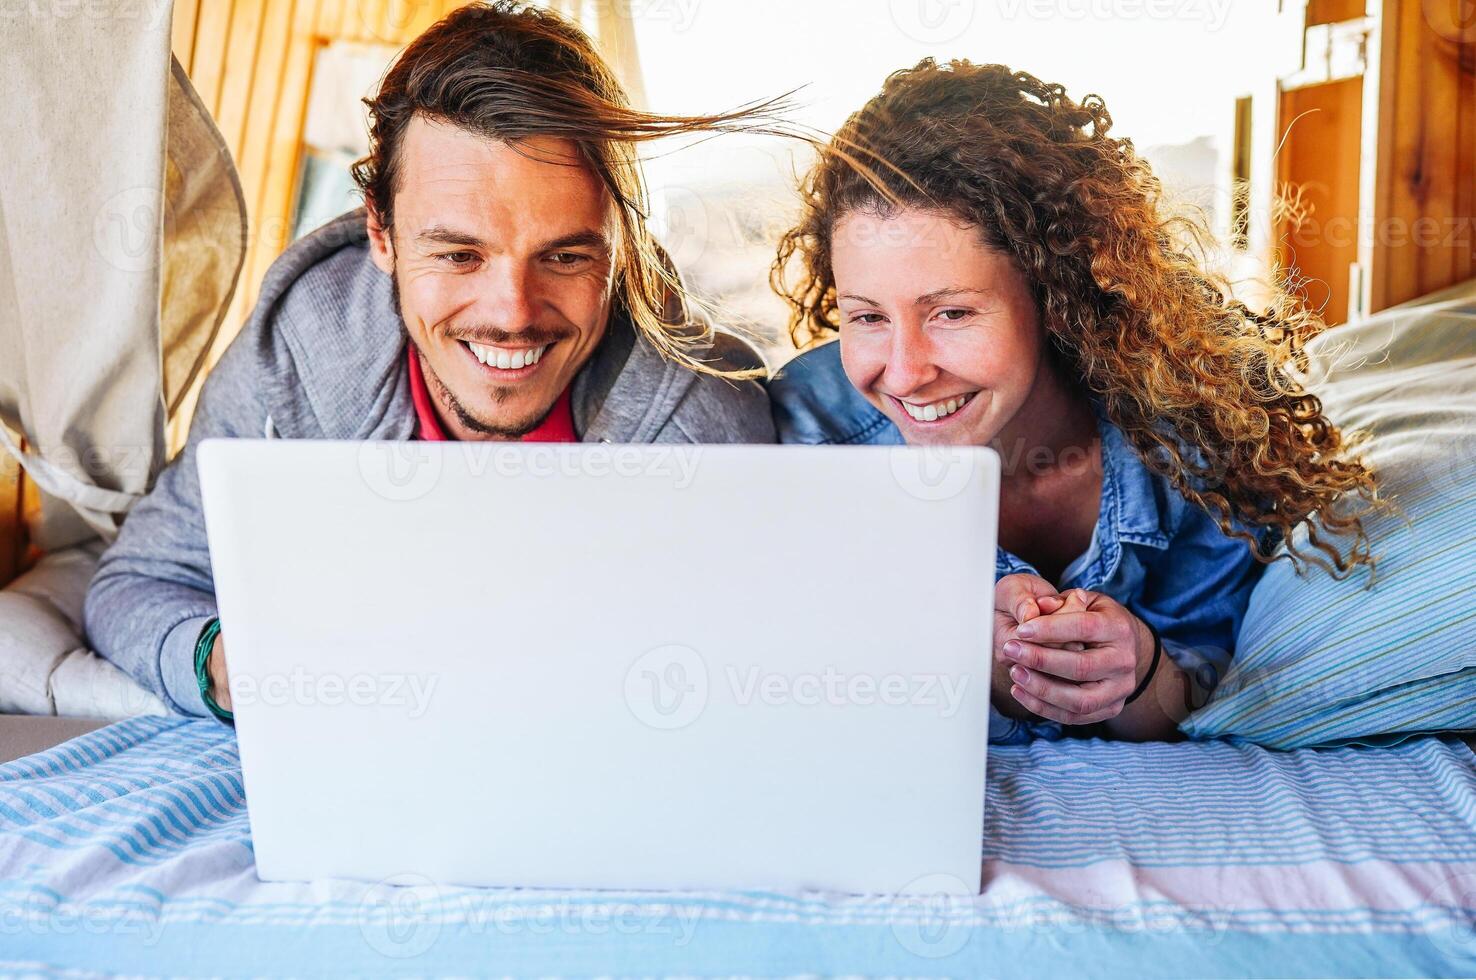
{"type": "Polygon", "coordinates": [[[518,148],[415,117],[400,145],[394,227],[370,211],[441,421],[458,438],[518,438],[605,334],[615,215],[565,140],[518,148]]]}

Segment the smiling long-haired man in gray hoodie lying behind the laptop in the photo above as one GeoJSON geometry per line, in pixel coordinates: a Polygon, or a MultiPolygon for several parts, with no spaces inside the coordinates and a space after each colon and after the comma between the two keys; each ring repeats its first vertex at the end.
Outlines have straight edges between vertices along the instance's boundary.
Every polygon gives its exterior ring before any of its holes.
{"type": "Polygon", "coordinates": [[[762,362],[688,323],[633,165],[737,117],[633,112],[587,37],[511,0],[427,31],[370,114],[366,208],[272,266],[87,596],[94,648],[177,711],[230,708],[202,438],[773,441],[762,388],[711,373],[762,362]]]}

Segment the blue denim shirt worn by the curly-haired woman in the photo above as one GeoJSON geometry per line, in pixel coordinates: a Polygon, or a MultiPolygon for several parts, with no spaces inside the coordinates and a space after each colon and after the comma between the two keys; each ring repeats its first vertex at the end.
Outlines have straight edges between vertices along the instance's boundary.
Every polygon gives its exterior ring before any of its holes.
{"type": "MultiPolygon", "coordinates": [[[[902,434],[850,385],[840,344],[791,360],[769,384],[784,443],[896,446],[902,434]]],[[[1098,412],[1103,494],[1092,543],[1057,583],[1111,596],[1163,638],[1163,652],[1212,689],[1230,667],[1240,621],[1262,565],[1201,508],[1151,472],[1128,438],[1098,412]]],[[[996,576],[1041,573],[1005,549],[996,576]]],[[[992,711],[990,742],[1060,738],[1054,722],[1014,722],[992,711]]]]}

